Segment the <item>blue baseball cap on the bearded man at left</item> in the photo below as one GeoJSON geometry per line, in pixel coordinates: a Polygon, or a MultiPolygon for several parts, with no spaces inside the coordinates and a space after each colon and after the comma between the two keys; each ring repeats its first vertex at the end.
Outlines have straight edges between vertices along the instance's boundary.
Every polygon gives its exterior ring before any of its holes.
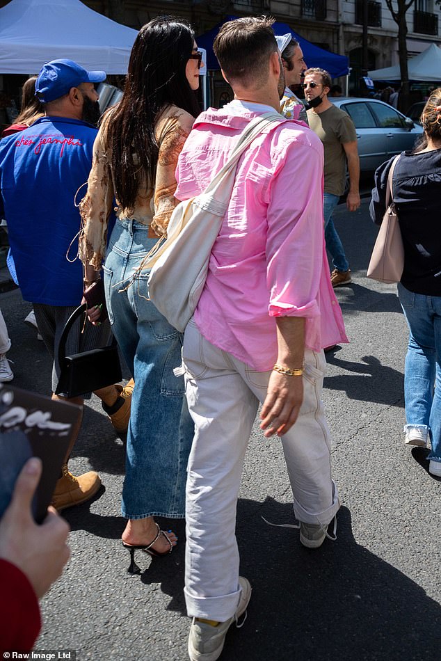
{"type": "Polygon", "coordinates": [[[51,60],[46,62],[35,81],[35,96],[42,103],[49,103],[63,97],[72,87],[81,83],[102,83],[106,79],[104,71],[86,71],[72,60],[51,60]]]}

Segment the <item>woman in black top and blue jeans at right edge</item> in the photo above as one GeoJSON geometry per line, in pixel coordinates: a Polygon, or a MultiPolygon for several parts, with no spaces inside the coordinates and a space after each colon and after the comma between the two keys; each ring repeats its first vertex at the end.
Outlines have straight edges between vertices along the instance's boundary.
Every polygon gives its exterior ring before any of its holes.
{"type": "MultiPolygon", "coordinates": [[[[426,447],[430,439],[428,470],[441,477],[441,88],[431,93],[421,118],[422,140],[412,152],[401,154],[392,177],[404,245],[398,295],[410,332],[404,443],[426,447]]],[[[393,160],[375,173],[371,216],[378,224],[393,160]]]]}

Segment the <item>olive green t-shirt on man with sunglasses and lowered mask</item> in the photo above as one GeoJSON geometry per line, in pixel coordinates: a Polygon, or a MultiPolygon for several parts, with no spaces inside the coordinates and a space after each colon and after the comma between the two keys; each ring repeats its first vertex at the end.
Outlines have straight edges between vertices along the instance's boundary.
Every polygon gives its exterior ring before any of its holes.
{"type": "Polygon", "coordinates": [[[334,104],[323,113],[307,111],[310,129],[319,136],[325,150],[325,193],[343,195],[346,178],[346,153],[344,143],[357,140],[353,121],[334,104]]]}

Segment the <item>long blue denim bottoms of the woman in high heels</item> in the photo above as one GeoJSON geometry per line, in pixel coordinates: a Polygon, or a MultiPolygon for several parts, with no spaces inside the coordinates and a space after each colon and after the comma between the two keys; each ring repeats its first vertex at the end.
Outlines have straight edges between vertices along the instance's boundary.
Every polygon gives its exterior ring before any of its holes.
{"type": "Polygon", "coordinates": [[[120,218],[104,264],[109,319],[135,380],[121,507],[130,519],[184,518],[194,433],[184,377],[173,374],[182,363],[182,333],[148,300],[148,272],[131,278],[157,240],[148,238],[147,225],[120,218]]]}

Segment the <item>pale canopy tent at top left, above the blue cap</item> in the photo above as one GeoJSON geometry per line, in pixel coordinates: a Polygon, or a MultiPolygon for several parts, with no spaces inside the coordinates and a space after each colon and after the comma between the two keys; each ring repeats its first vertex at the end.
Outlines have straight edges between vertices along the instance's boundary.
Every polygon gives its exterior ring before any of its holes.
{"type": "Polygon", "coordinates": [[[79,0],[12,0],[0,9],[0,74],[38,73],[56,58],[125,74],[137,34],[79,0]]]}

